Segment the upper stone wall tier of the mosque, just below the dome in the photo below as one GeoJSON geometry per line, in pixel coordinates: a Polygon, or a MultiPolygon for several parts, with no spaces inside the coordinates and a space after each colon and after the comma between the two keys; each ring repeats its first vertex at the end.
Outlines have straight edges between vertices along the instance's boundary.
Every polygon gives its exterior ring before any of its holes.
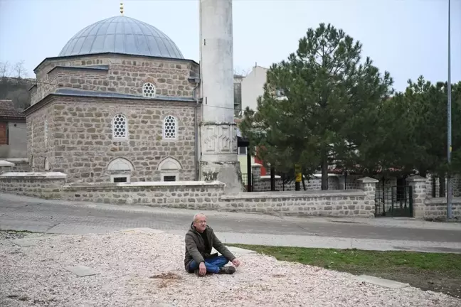
{"type": "Polygon", "coordinates": [[[107,54],[49,59],[36,70],[37,90],[31,104],[54,92],[58,85],[142,95],[144,82],[152,82],[157,95],[192,97],[194,85],[187,80],[191,75],[199,75],[198,64],[191,60],[107,54]],[[56,68],[48,74],[56,66],[92,65],[109,65],[109,71],[56,68]]]}

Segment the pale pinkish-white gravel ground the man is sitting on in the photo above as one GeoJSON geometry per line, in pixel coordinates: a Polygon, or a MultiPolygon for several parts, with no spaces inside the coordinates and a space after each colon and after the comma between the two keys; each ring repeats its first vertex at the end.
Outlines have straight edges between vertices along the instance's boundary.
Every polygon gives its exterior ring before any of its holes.
{"type": "MultiPolygon", "coordinates": [[[[461,300],[415,288],[387,289],[351,274],[245,254],[234,275],[184,271],[184,239],[147,232],[0,239],[0,306],[438,306],[461,300]],[[90,266],[94,276],[64,268],[90,266]],[[167,274],[164,278],[151,276],[167,274]]],[[[238,256],[238,255],[237,255],[238,256]]]]}

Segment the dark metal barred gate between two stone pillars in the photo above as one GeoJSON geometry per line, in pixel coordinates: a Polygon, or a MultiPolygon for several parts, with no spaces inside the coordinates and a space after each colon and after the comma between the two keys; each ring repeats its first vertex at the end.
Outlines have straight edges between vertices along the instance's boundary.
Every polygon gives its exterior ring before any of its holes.
{"type": "Polygon", "coordinates": [[[376,190],[375,217],[413,217],[412,188],[394,185],[376,190]]]}

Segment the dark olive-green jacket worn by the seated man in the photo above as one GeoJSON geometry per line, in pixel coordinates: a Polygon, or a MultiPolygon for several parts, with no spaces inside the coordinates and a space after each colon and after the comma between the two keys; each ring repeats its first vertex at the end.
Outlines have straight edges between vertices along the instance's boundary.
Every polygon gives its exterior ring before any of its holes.
{"type": "Polygon", "coordinates": [[[211,255],[211,249],[213,247],[229,261],[235,259],[235,256],[229,252],[229,249],[227,249],[221,241],[219,241],[214,234],[213,229],[209,226],[206,226],[206,235],[208,237],[208,242],[210,242],[208,250],[205,249],[205,242],[203,241],[200,233],[198,233],[195,229],[194,222],[191,224],[189,232],[186,233],[186,257],[184,259],[186,271],[189,271],[189,265],[193,259],[200,264],[200,262],[204,262],[205,259],[216,256],[211,255]]]}

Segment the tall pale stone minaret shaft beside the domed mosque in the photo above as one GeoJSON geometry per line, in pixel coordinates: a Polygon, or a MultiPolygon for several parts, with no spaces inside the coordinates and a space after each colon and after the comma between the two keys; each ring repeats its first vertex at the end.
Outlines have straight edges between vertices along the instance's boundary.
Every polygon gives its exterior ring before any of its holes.
{"type": "Polygon", "coordinates": [[[233,111],[232,0],[200,0],[201,180],[243,190],[233,111]]]}

